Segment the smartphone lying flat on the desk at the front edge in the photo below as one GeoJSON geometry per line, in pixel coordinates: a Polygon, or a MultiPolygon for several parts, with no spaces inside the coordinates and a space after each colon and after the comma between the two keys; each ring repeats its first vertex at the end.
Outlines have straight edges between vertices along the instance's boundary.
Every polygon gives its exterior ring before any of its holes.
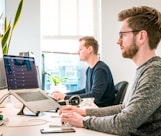
{"type": "Polygon", "coordinates": [[[46,133],[69,133],[69,132],[75,132],[75,129],[72,127],[67,127],[67,128],[45,128],[45,129],[40,129],[40,132],[42,134],[46,133]]]}

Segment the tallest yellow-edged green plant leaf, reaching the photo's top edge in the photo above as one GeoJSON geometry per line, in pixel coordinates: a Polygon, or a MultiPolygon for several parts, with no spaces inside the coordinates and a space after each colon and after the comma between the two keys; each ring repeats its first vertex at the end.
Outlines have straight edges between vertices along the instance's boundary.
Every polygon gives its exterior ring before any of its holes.
{"type": "Polygon", "coordinates": [[[21,11],[22,11],[22,5],[23,5],[23,0],[20,1],[17,11],[16,11],[16,15],[15,15],[15,19],[14,19],[14,23],[12,26],[12,30],[15,28],[16,24],[18,23],[19,19],[20,19],[20,15],[21,15],[21,11]]]}

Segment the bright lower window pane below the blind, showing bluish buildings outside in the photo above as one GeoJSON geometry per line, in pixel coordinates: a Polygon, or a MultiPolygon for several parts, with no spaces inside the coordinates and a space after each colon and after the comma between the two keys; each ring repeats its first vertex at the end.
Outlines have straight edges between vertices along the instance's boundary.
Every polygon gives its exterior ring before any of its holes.
{"type": "MultiPolygon", "coordinates": [[[[85,72],[87,64],[79,61],[77,54],[64,53],[43,53],[43,72],[65,77],[67,80],[62,84],[66,86],[66,91],[75,91],[84,87],[85,72]]],[[[43,75],[45,84],[44,90],[50,90],[51,82],[48,75],[43,75]]]]}

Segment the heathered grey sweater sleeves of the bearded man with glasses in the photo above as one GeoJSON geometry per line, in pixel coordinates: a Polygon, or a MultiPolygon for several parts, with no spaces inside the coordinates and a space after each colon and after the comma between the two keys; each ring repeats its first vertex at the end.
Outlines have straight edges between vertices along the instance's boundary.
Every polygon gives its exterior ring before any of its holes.
{"type": "MultiPolygon", "coordinates": [[[[160,75],[161,68],[156,67],[140,72],[134,82],[132,95],[126,107],[122,110],[118,110],[118,106],[115,110],[112,107],[88,109],[87,115],[91,117],[85,122],[85,127],[111,134],[127,135],[135,133],[145,122],[157,120],[158,116],[154,113],[161,103],[160,75]]],[[[148,130],[144,130],[146,131],[148,130]]]]}

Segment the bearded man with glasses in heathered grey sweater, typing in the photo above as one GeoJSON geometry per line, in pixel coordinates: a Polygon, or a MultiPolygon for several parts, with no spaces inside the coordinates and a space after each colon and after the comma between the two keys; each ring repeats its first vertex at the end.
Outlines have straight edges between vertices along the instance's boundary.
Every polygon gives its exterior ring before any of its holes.
{"type": "Polygon", "coordinates": [[[62,123],[116,135],[161,135],[161,58],[155,50],[161,39],[161,13],[141,6],[121,11],[117,43],[122,56],[136,64],[133,86],[124,103],[97,109],[67,106],[62,123]]]}

